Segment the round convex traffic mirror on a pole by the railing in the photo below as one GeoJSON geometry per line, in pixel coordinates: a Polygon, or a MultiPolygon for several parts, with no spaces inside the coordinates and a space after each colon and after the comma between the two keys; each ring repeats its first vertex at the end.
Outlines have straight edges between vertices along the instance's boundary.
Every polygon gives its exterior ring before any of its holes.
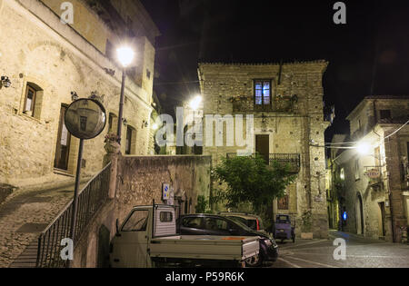
{"type": "Polygon", "coordinates": [[[105,124],[105,108],[93,99],[79,99],[65,112],[66,129],[76,138],[93,139],[104,131],[105,124]]]}

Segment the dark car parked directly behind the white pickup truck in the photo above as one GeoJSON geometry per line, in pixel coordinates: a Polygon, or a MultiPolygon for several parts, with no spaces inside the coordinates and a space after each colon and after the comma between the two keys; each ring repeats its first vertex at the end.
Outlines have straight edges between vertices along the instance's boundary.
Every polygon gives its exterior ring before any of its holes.
{"type": "Polygon", "coordinates": [[[181,235],[214,236],[258,236],[260,254],[247,259],[247,266],[259,266],[263,261],[276,261],[278,246],[274,238],[265,232],[256,232],[242,222],[216,214],[184,214],[176,221],[177,231],[181,235]]]}

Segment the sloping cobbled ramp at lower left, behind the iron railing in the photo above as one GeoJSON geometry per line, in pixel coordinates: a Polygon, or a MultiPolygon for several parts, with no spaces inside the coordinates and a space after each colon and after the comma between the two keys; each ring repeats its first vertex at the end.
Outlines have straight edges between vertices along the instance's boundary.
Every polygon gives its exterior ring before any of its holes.
{"type": "Polygon", "coordinates": [[[28,245],[33,245],[73,195],[74,185],[46,191],[19,190],[9,195],[0,204],[0,268],[9,267],[28,245]]]}

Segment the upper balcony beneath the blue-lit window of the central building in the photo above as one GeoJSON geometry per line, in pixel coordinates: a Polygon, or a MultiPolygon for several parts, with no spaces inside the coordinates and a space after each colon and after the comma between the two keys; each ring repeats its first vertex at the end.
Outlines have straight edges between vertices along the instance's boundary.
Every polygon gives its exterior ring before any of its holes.
{"type": "Polygon", "coordinates": [[[271,104],[255,104],[253,96],[234,97],[231,99],[234,113],[275,112],[294,113],[296,96],[274,97],[271,104]]]}

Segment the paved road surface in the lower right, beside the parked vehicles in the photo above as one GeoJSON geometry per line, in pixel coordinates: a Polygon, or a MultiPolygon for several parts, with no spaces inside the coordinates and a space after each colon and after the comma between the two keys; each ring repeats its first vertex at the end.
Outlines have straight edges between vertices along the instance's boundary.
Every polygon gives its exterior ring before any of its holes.
{"type": "Polygon", "coordinates": [[[330,232],[330,240],[279,244],[280,258],[271,268],[409,268],[409,245],[368,241],[357,235],[330,232]],[[334,260],[336,238],[346,242],[346,259],[334,260]]]}

